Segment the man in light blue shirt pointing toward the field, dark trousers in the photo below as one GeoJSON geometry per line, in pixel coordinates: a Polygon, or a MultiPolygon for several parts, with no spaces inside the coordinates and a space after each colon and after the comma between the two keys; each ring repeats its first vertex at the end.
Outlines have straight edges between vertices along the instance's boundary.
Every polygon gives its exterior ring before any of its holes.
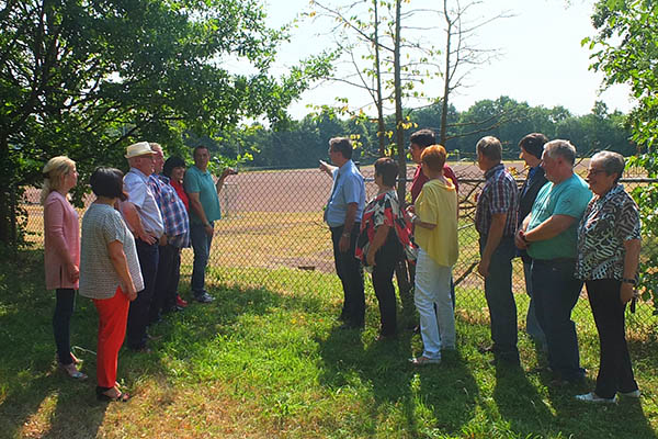
{"type": "Polygon", "coordinates": [[[343,328],[362,328],[365,317],[363,268],[354,256],[361,217],[365,206],[363,176],[352,161],[352,142],[347,137],[329,140],[329,158],[336,166],[320,160],[320,170],[332,179],[331,195],[325,210],[325,221],[331,230],[336,272],[343,286],[343,328]]]}

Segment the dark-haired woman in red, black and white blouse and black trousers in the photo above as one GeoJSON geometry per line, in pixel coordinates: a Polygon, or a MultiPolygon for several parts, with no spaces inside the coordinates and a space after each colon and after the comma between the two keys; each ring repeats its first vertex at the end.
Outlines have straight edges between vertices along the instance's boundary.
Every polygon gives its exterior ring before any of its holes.
{"type": "Polygon", "coordinates": [[[378,340],[396,335],[396,303],[393,272],[406,255],[415,259],[410,224],[406,219],[395,191],[398,166],[389,157],[375,161],[375,184],[379,189],[364,209],[356,257],[373,275],[373,288],[379,302],[382,327],[378,340]]]}

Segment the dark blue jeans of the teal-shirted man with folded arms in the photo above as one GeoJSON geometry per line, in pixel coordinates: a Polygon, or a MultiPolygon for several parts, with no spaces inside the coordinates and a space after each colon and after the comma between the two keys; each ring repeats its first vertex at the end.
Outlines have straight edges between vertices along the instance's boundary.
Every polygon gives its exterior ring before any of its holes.
{"type": "Polygon", "coordinates": [[[540,326],[546,335],[548,365],[568,381],[585,376],[576,324],[571,320],[571,311],[582,289],[582,281],[574,278],[575,266],[575,259],[532,262],[532,293],[540,326]]]}

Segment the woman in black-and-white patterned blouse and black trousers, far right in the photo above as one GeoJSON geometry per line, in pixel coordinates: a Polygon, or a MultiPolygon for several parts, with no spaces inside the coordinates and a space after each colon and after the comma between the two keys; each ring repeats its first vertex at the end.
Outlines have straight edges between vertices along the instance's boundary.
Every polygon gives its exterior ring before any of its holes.
{"type": "Polygon", "coordinates": [[[587,180],[594,198],[578,227],[576,277],[585,280],[599,331],[597,389],[576,398],[614,403],[616,394],[639,397],[626,346],[624,311],[635,296],[639,260],[639,213],[619,183],[624,158],[601,151],[590,160],[587,180]]]}

